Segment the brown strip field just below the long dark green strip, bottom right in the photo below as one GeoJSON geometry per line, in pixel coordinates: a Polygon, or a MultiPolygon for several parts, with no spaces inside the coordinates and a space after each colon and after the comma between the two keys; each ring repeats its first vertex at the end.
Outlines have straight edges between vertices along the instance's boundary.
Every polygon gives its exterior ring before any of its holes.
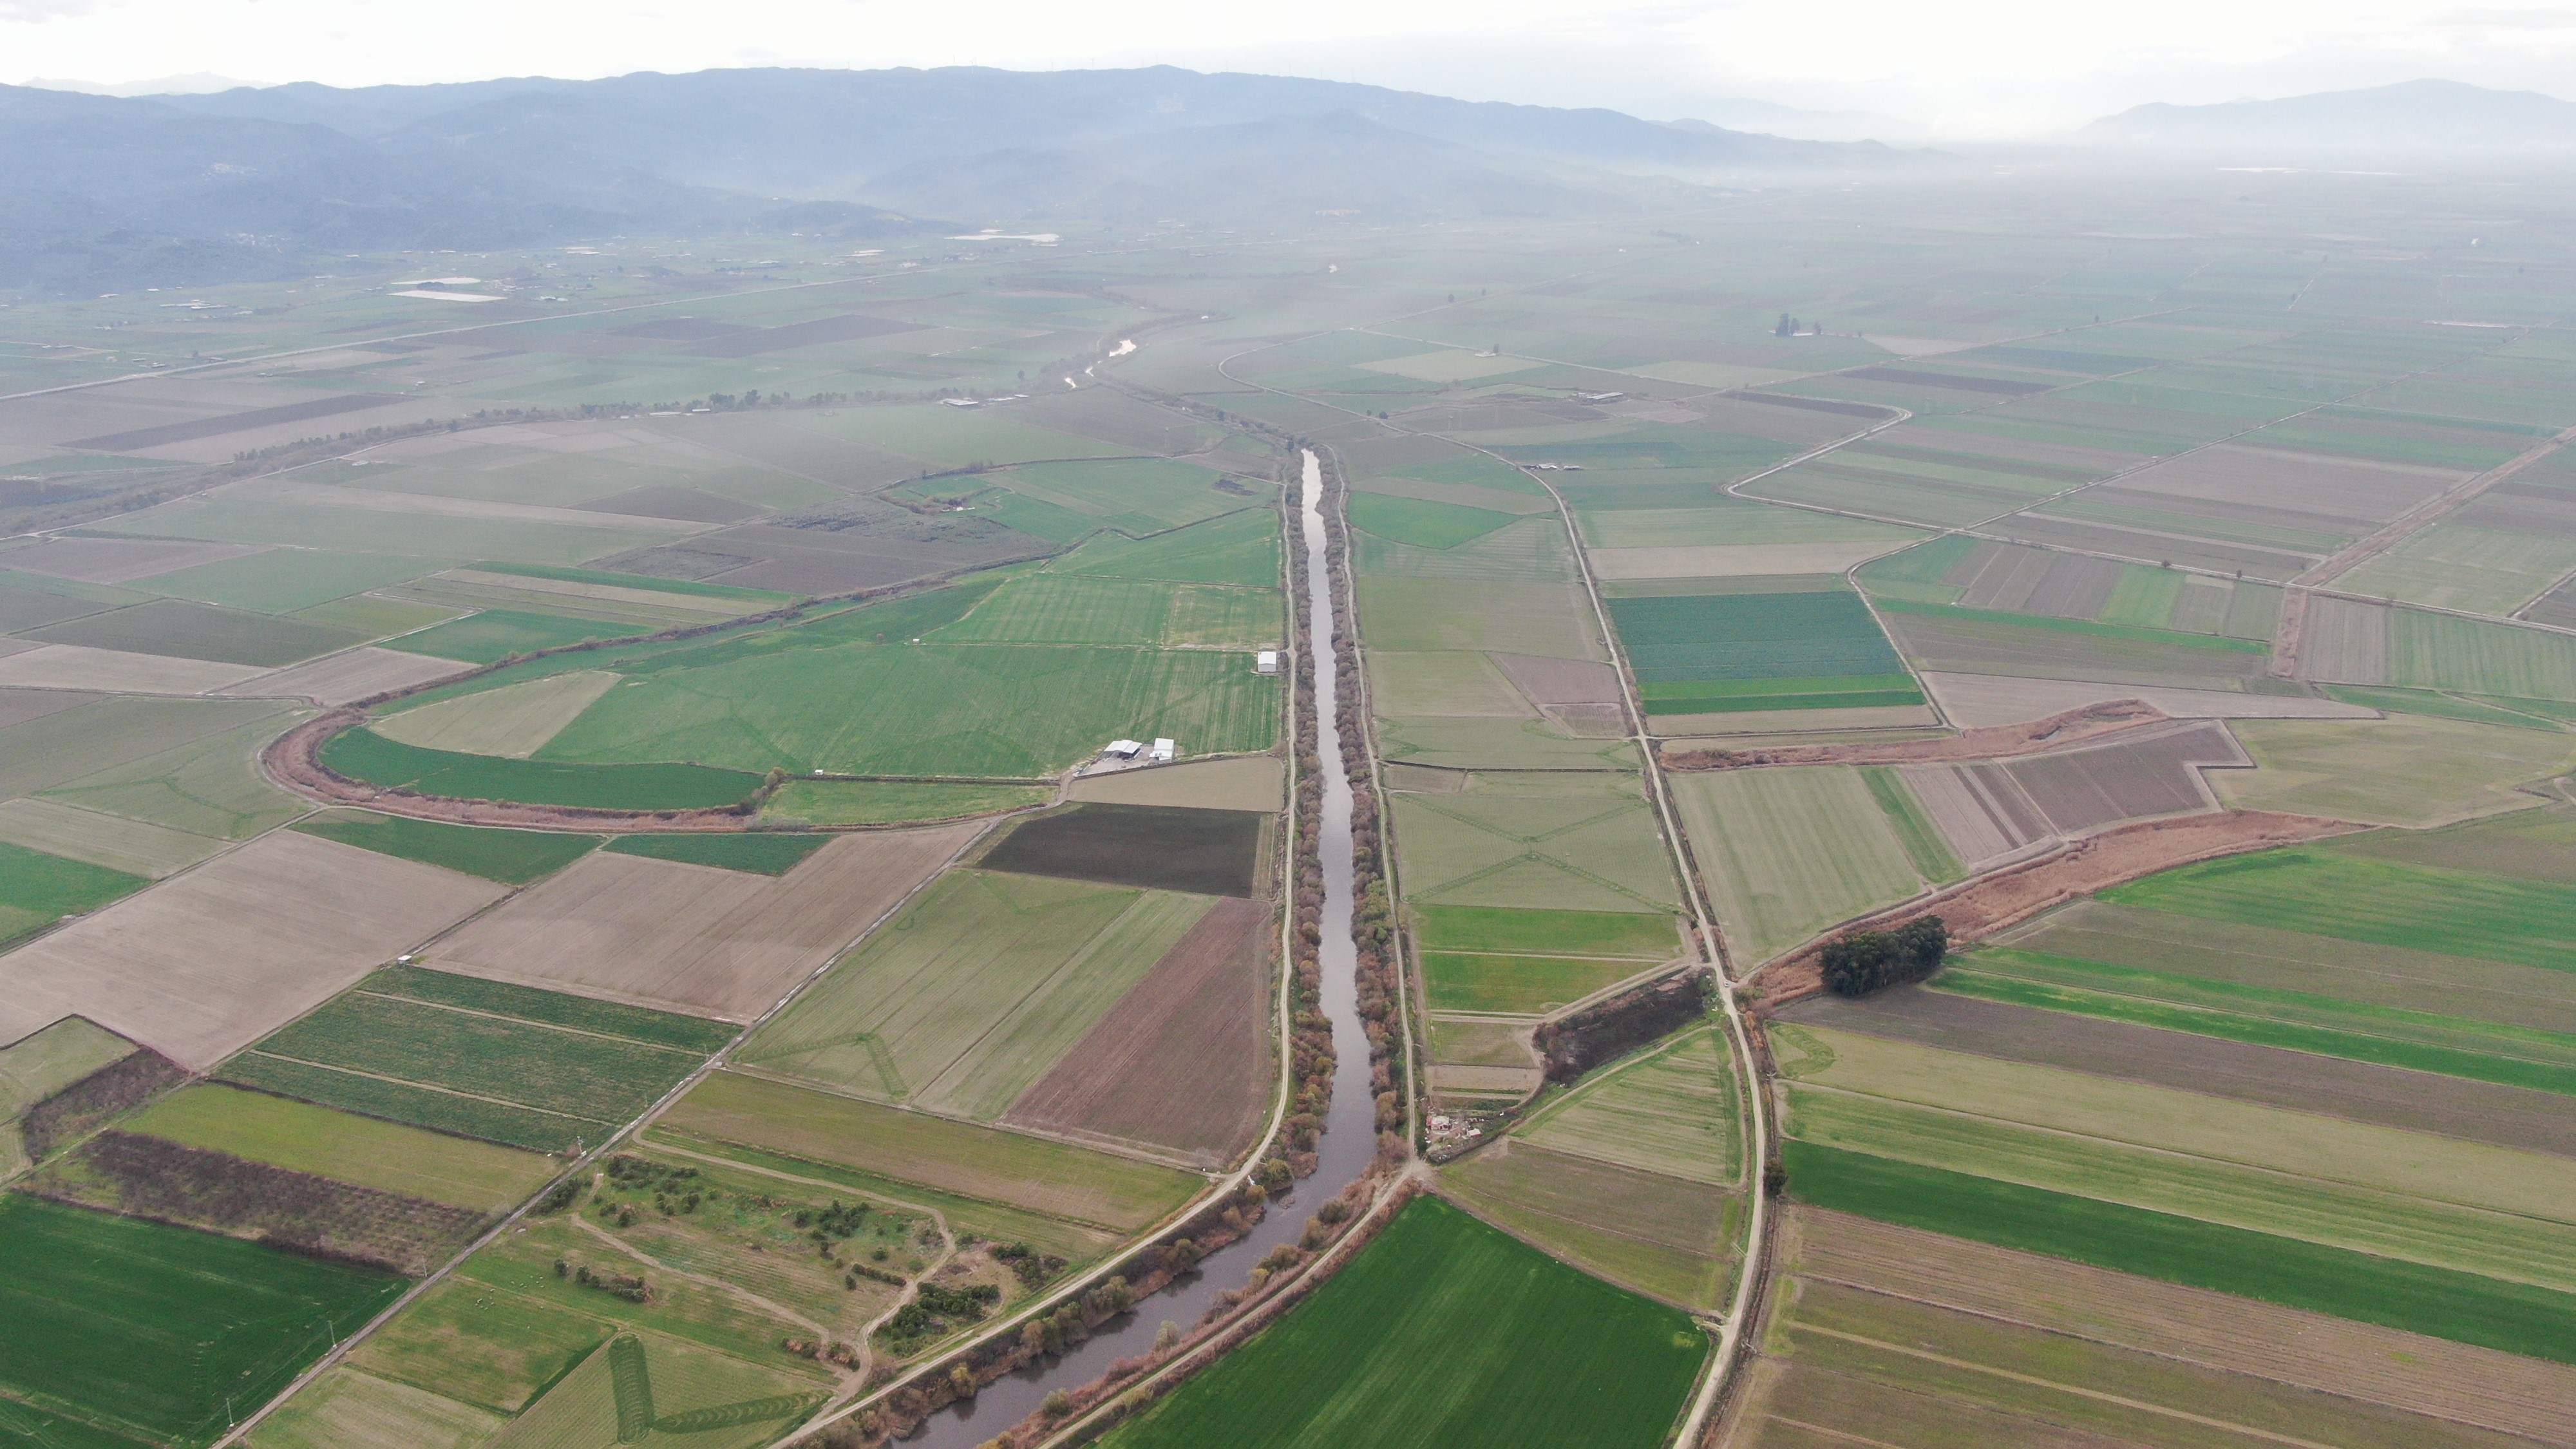
{"type": "Polygon", "coordinates": [[[2476,1423],[2566,1439],[2576,1369],[2063,1258],[1793,1207],[1798,1274],[2476,1423]]]}

